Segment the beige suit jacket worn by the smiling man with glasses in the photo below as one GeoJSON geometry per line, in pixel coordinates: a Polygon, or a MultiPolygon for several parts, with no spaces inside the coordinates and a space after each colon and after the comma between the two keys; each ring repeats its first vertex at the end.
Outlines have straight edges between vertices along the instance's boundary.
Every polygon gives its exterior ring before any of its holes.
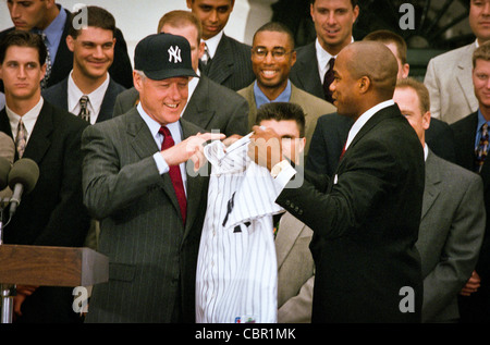
{"type": "MultiPolygon", "coordinates": [[[[254,82],[255,83],[255,82],[254,82]]],[[[255,120],[257,118],[257,104],[255,102],[254,96],[254,83],[252,83],[246,88],[237,91],[240,95],[245,97],[248,101],[249,113],[248,113],[248,125],[252,130],[252,126],[255,125],[255,120]]],[[[306,136],[306,146],[305,146],[305,156],[308,155],[309,141],[311,140],[313,133],[315,131],[315,126],[317,125],[317,120],[319,116],[329,114],[336,111],[336,108],[333,107],[332,103],[313,96],[291,83],[291,99],[290,102],[297,103],[303,108],[305,112],[305,136],[306,136]]]]}

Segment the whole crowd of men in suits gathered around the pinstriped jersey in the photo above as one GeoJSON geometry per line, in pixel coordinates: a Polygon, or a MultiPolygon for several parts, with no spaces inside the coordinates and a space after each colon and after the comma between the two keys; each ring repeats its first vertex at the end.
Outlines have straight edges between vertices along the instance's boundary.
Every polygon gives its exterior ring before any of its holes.
{"type": "Polygon", "coordinates": [[[195,322],[201,230],[218,217],[203,146],[253,132],[249,159],[284,210],[278,322],[490,322],[490,0],[469,3],[475,42],[433,58],[421,83],[399,35],[354,40],[356,0],[311,0],[303,47],[275,22],[247,46],[224,34],[234,0],[186,0],[134,66],[106,9],[8,0],[0,138],[39,180],[3,241],[109,258],[86,315],[72,288],[21,285],[14,321],[195,322]]]}

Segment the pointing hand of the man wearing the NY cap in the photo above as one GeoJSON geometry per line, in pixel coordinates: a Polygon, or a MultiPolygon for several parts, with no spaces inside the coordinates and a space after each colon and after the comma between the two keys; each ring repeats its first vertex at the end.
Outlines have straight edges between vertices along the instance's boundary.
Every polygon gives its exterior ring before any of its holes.
{"type": "Polygon", "coordinates": [[[198,171],[206,163],[203,144],[208,140],[221,140],[224,137],[225,135],[221,133],[198,133],[161,151],[161,156],[169,167],[179,165],[191,159],[194,162],[194,171],[198,171]]]}

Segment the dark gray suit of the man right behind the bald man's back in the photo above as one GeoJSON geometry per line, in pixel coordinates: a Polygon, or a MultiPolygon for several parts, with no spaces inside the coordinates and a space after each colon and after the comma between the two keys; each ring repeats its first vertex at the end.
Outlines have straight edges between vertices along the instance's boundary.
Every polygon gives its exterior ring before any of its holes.
{"type": "Polygon", "coordinates": [[[480,176],[429,150],[416,244],[424,276],[422,322],[460,318],[457,295],[475,269],[485,226],[480,176]]]}

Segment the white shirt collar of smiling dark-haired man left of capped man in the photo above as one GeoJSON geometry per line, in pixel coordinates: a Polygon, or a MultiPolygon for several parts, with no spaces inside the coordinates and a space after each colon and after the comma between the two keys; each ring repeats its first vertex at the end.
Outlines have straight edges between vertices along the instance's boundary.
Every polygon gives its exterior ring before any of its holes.
{"type": "MultiPolygon", "coordinates": [[[[77,114],[79,111],[79,99],[85,94],[76,86],[73,81],[73,70],[69,76],[68,94],[69,94],[69,111],[73,114],[77,114]]],[[[94,91],[88,94],[88,107],[90,109],[90,123],[94,124],[99,115],[100,108],[102,107],[103,97],[106,96],[107,88],[109,87],[110,76],[107,73],[106,81],[94,91]]]]}

